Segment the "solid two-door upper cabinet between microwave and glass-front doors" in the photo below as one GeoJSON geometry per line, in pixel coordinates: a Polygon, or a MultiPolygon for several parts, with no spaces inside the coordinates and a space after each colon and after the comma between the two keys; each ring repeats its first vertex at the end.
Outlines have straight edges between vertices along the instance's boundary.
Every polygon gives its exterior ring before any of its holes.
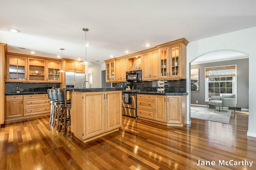
{"type": "Polygon", "coordinates": [[[159,79],[158,50],[142,54],[142,80],[159,79]]]}

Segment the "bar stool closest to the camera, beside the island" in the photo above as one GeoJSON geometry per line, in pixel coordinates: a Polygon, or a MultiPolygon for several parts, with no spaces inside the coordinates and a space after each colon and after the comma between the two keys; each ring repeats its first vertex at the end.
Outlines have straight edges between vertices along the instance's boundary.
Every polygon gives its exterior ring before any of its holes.
{"type": "Polygon", "coordinates": [[[60,125],[59,132],[63,129],[63,136],[66,136],[66,129],[71,125],[71,95],[70,91],[57,90],[57,98],[59,102],[60,115],[58,117],[58,124],[60,125]]]}

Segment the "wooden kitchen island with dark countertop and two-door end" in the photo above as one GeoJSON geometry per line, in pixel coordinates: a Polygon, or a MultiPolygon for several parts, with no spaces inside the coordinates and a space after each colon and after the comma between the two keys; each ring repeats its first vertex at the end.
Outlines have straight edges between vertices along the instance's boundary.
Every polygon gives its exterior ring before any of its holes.
{"type": "Polygon", "coordinates": [[[71,131],[88,142],[122,125],[122,88],[69,88],[71,131]]]}

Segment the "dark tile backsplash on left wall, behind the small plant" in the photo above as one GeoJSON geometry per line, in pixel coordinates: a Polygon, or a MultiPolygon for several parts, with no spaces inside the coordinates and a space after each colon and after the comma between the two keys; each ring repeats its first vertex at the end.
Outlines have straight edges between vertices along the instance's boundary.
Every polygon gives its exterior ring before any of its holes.
{"type": "Polygon", "coordinates": [[[60,83],[20,83],[20,82],[6,82],[5,93],[12,93],[16,88],[23,88],[23,92],[46,92],[48,88],[59,88],[60,83]]]}

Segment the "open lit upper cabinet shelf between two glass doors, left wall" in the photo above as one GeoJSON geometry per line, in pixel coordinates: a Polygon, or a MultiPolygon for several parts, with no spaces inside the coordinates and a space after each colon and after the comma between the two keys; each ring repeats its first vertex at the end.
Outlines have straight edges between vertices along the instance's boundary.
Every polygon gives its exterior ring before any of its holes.
{"type": "Polygon", "coordinates": [[[28,81],[46,82],[46,60],[28,58],[28,81]]]}

